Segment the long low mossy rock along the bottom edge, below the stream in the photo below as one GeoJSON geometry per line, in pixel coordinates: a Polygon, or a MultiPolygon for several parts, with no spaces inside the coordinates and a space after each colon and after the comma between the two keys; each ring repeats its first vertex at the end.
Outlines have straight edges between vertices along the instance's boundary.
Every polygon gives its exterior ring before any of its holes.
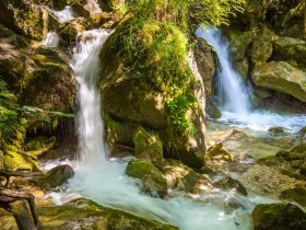
{"type": "Polygon", "coordinates": [[[61,206],[38,206],[44,229],[152,229],[177,230],[176,227],[151,221],[126,211],[106,208],[89,199],[75,199],[61,206]],[[52,217],[52,218],[50,218],[52,217]]]}

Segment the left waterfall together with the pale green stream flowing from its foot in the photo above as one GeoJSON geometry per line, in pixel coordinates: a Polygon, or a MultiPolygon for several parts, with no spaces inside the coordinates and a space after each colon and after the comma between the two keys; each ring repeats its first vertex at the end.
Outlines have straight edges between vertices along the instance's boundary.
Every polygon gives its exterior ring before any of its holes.
{"type": "Polygon", "coordinates": [[[255,205],[246,197],[215,192],[196,197],[170,193],[165,199],[153,198],[141,192],[139,181],[126,175],[130,159],[107,158],[97,82],[98,53],[108,35],[106,31],[96,30],[84,32],[76,39],[79,45],[73,55],[73,68],[80,84],[80,157],[68,188],[50,196],[58,205],[76,197],[90,198],[108,207],[177,226],[181,230],[251,229],[249,212],[255,205]],[[229,200],[240,208],[228,210],[229,200]]]}

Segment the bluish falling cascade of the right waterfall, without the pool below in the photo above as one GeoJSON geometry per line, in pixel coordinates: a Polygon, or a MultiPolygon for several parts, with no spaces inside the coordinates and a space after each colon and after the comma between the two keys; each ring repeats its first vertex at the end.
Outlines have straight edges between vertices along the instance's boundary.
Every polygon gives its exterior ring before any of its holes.
{"type": "Polygon", "coordinates": [[[248,114],[250,110],[249,95],[240,76],[231,64],[227,42],[222,38],[220,31],[214,26],[199,27],[196,35],[207,41],[216,51],[220,61],[217,96],[221,107],[236,114],[248,114]]]}

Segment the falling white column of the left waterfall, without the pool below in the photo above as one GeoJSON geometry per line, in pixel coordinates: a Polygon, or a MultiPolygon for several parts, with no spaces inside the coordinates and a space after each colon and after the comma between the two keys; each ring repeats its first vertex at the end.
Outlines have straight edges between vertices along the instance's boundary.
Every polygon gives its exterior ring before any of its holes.
{"type": "Polygon", "coordinates": [[[92,166],[103,164],[108,154],[104,141],[104,125],[101,115],[98,93],[99,50],[110,35],[105,30],[83,32],[76,37],[79,44],[74,48],[73,69],[80,84],[78,116],[79,162],[92,166]]]}

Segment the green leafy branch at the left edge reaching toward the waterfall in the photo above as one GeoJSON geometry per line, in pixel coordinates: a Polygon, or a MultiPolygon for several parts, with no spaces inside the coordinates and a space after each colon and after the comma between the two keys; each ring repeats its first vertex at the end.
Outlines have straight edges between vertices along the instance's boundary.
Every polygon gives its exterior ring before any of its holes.
{"type": "Polygon", "coordinates": [[[8,90],[7,82],[0,79],[0,142],[12,142],[30,118],[50,123],[56,117],[74,116],[61,112],[48,112],[34,106],[21,106],[14,103],[14,94],[8,90]]]}

